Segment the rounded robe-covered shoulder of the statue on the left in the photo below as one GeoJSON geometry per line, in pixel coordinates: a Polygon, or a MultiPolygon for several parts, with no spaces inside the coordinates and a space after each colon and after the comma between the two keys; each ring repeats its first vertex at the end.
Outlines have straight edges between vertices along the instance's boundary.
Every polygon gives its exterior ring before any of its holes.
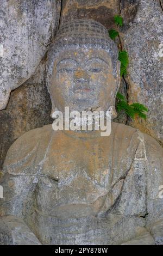
{"type": "Polygon", "coordinates": [[[42,147],[46,150],[52,133],[52,124],[45,125],[25,132],[11,145],[4,161],[4,170],[18,173],[18,169],[26,169],[28,165],[32,166],[37,152],[42,147]]]}

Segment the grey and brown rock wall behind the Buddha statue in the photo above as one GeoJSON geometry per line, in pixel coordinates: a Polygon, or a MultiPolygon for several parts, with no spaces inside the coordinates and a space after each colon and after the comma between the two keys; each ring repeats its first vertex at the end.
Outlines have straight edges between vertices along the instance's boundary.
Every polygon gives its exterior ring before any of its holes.
{"type": "Polygon", "coordinates": [[[94,19],[110,29],[115,28],[114,15],[123,16],[120,39],[130,63],[120,90],[129,102],[143,103],[149,112],[147,121],[124,114],[115,121],[163,143],[161,0],[0,0],[0,6],[0,168],[16,138],[52,123],[46,52],[58,27],[74,18],[94,19]]]}

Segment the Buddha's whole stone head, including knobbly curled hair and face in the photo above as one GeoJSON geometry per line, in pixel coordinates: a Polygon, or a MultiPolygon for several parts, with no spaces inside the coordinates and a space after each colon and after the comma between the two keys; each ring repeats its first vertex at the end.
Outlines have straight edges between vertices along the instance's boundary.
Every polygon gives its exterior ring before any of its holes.
{"type": "Polygon", "coordinates": [[[62,26],[48,52],[47,86],[52,106],[64,112],[114,108],[120,62],[107,29],[93,20],[62,26]]]}

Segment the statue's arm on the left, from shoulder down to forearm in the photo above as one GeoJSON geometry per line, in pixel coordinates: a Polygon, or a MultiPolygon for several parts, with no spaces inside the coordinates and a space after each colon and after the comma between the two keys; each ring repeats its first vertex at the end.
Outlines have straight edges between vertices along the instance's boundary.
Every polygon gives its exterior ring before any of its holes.
{"type": "Polygon", "coordinates": [[[20,137],[12,144],[4,162],[1,179],[4,198],[0,201],[0,244],[2,245],[40,243],[23,221],[32,213],[36,186],[33,164],[35,140],[33,139],[33,143],[30,141],[28,143],[26,137],[20,137]]]}

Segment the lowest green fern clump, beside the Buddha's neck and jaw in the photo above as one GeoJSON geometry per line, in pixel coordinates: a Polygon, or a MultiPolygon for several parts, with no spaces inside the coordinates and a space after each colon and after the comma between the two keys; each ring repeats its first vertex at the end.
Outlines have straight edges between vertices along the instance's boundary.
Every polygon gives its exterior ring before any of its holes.
{"type": "Polygon", "coordinates": [[[125,97],[120,93],[117,93],[117,100],[118,112],[123,110],[129,117],[133,119],[135,118],[136,115],[143,119],[147,118],[146,112],[148,112],[148,108],[145,107],[143,104],[133,103],[129,105],[125,97]]]}

